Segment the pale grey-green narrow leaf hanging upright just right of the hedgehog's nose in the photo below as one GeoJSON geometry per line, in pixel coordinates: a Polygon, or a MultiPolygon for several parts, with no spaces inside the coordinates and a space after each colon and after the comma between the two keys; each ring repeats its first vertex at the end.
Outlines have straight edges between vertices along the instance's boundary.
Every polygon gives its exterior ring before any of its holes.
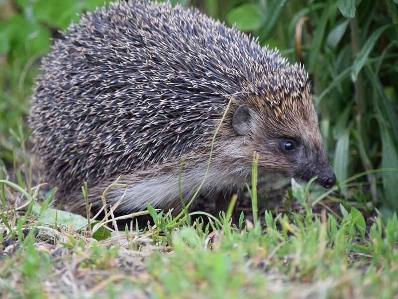
{"type": "Polygon", "coordinates": [[[339,182],[348,177],[348,157],[350,144],[350,130],[346,129],[341,137],[336,142],[336,149],[334,153],[334,173],[339,182]]]}

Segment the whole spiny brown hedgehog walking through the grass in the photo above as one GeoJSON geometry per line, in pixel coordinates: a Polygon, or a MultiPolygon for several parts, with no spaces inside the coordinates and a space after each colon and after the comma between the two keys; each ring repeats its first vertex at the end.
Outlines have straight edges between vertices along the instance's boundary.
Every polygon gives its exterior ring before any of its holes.
{"type": "Polygon", "coordinates": [[[251,178],[254,152],[260,176],[336,181],[303,66],[169,2],[115,1],[72,23],[42,60],[29,126],[73,211],[84,182],[100,209],[119,176],[127,189],[106,202],[124,195],[123,213],[178,207],[179,181],[188,200],[205,174],[200,194],[227,194],[251,178]]]}

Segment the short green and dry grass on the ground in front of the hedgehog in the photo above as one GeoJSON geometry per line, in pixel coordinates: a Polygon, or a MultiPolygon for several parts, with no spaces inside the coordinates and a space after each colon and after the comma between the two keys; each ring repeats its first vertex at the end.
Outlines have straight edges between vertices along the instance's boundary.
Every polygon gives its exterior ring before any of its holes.
{"type": "MultiPolygon", "coordinates": [[[[155,225],[144,230],[133,221],[124,230],[106,226],[117,204],[88,226],[82,216],[53,209],[53,192],[43,199],[40,186],[0,185],[12,194],[2,197],[0,220],[3,298],[398,296],[397,216],[365,219],[341,204],[337,216],[315,213],[311,182],[293,180],[287,190],[286,202],[301,206],[296,211],[242,213],[232,223],[231,201],[219,220],[204,224],[188,211],[177,219],[148,205],[143,213],[155,225]]],[[[249,191],[256,211],[256,188],[249,191]]]]}

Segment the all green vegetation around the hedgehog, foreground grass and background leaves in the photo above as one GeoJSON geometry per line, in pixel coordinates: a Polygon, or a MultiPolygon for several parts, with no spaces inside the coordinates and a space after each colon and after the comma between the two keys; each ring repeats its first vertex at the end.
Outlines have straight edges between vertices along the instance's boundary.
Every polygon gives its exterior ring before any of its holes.
{"type": "Polygon", "coordinates": [[[46,1],[0,0],[1,298],[398,298],[397,1],[180,1],[305,64],[338,183],[265,187],[254,155],[246,205],[176,217],[82,217],[40,192],[25,121],[39,58],[103,2],[46,1]]]}

